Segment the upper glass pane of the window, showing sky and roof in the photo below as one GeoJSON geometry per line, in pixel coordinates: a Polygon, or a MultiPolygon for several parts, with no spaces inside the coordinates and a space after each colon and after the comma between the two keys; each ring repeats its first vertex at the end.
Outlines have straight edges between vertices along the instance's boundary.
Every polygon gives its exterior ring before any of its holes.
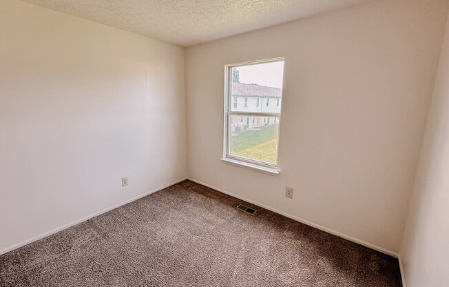
{"type": "Polygon", "coordinates": [[[284,61],[234,67],[231,75],[231,111],[280,112],[280,105],[272,103],[282,97],[284,61]]]}

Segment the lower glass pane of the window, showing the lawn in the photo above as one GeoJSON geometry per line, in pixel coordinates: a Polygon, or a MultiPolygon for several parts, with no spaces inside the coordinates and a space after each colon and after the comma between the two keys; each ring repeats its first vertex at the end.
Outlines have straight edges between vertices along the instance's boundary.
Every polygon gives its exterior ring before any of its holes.
{"type": "Polygon", "coordinates": [[[278,117],[232,115],[231,155],[276,163],[278,156],[278,117]]]}

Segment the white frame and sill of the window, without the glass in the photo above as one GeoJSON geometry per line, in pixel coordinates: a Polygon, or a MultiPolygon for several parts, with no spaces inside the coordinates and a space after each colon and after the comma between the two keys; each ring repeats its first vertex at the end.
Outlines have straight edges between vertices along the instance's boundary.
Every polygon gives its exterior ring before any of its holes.
{"type": "MultiPolygon", "coordinates": [[[[252,170],[261,171],[270,175],[278,175],[279,174],[279,135],[280,135],[280,123],[281,123],[281,114],[282,114],[282,103],[281,103],[281,112],[233,112],[231,109],[231,105],[233,104],[232,95],[231,95],[231,83],[232,83],[232,68],[241,67],[241,66],[249,66],[260,63],[271,63],[277,61],[285,61],[284,57],[273,58],[273,59],[264,59],[260,61],[249,61],[244,63],[234,63],[230,65],[225,65],[225,111],[224,111],[224,128],[223,128],[223,153],[222,153],[222,161],[225,161],[227,164],[233,164],[237,166],[242,166],[244,168],[249,168],[252,170]],[[249,159],[246,157],[238,157],[236,155],[231,155],[231,145],[229,144],[229,139],[231,139],[231,116],[232,115],[242,115],[242,116],[250,116],[250,117],[278,117],[279,118],[279,126],[278,126],[278,146],[276,156],[276,163],[269,163],[266,161],[258,161],[255,159],[249,159]]],[[[282,89],[283,91],[283,89],[282,89]]],[[[282,95],[281,95],[282,97],[282,95]]]]}

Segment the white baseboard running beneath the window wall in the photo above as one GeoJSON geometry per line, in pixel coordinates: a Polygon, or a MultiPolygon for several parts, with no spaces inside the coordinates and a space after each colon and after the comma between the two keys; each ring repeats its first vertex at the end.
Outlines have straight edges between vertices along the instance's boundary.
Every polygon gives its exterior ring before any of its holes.
{"type": "Polygon", "coordinates": [[[347,239],[347,240],[349,240],[349,241],[353,241],[353,242],[355,242],[355,243],[357,243],[357,244],[360,244],[360,245],[366,246],[366,247],[368,247],[368,248],[377,250],[377,251],[379,251],[379,252],[381,252],[381,253],[384,253],[384,254],[386,254],[386,255],[390,255],[390,256],[393,256],[393,257],[396,257],[396,258],[399,256],[398,253],[396,253],[396,252],[394,252],[394,251],[392,251],[392,250],[388,250],[388,249],[386,249],[386,248],[377,246],[377,245],[375,245],[375,244],[370,244],[369,242],[366,242],[366,241],[364,241],[364,240],[362,240],[362,239],[358,239],[358,238],[352,237],[352,236],[350,236],[350,235],[343,234],[342,232],[338,232],[338,231],[336,231],[336,230],[332,230],[331,228],[327,228],[327,227],[324,227],[324,226],[320,226],[320,225],[318,225],[318,224],[314,224],[313,222],[311,222],[311,221],[309,221],[309,220],[302,219],[302,218],[300,218],[300,217],[295,217],[294,215],[289,215],[288,213],[283,212],[283,211],[281,211],[281,210],[277,210],[277,209],[275,209],[275,208],[272,208],[271,206],[266,206],[265,204],[260,204],[259,202],[254,201],[254,200],[252,200],[252,199],[247,199],[246,197],[242,197],[242,196],[240,196],[240,195],[236,195],[236,194],[234,194],[234,193],[232,193],[232,192],[229,192],[229,191],[227,191],[227,190],[223,190],[223,189],[221,189],[221,188],[217,188],[216,186],[211,186],[210,184],[206,184],[206,183],[204,183],[204,182],[202,182],[202,181],[199,181],[199,180],[197,180],[197,179],[193,179],[193,178],[191,178],[191,177],[187,177],[187,179],[189,179],[189,180],[191,180],[191,181],[194,181],[194,182],[196,182],[197,184],[201,184],[201,185],[203,185],[203,186],[207,186],[208,188],[212,188],[213,190],[217,190],[217,191],[219,191],[219,192],[225,193],[226,195],[231,195],[231,197],[236,197],[236,198],[238,198],[238,199],[247,201],[247,202],[249,202],[249,203],[251,203],[251,204],[255,204],[256,206],[260,206],[260,207],[262,207],[262,208],[265,208],[265,209],[267,209],[267,210],[271,210],[271,211],[273,211],[273,212],[275,212],[275,213],[278,213],[278,214],[280,214],[280,215],[284,215],[284,217],[289,217],[289,218],[291,218],[291,219],[293,219],[293,220],[295,220],[295,221],[301,222],[302,224],[306,224],[306,225],[308,225],[308,226],[312,226],[312,227],[317,228],[317,229],[320,229],[320,230],[322,230],[322,231],[324,231],[324,232],[331,233],[331,234],[336,235],[336,236],[338,236],[338,237],[342,237],[342,238],[347,239]]]}

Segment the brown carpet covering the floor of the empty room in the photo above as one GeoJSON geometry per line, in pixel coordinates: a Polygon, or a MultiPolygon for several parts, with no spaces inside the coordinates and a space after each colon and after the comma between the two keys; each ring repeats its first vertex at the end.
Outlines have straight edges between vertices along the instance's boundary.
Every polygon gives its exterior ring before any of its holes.
{"type": "Polygon", "coordinates": [[[0,286],[401,283],[393,257],[183,181],[2,255],[0,286]]]}

